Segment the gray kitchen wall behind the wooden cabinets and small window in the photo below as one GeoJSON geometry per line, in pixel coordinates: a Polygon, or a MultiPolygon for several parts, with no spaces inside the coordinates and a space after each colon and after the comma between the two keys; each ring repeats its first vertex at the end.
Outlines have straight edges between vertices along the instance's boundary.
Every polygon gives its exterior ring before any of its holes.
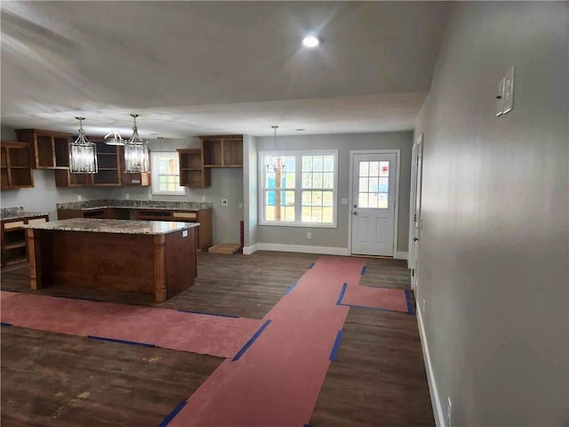
{"type": "MultiPolygon", "coordinates": [[[[3,141],[16,141],[11,129],[2,129],[3,141]]],[[[156,140],[150,141],[152,151],[175,151],[182,148],[199,148],[199,140],[156,140]]],[[[76,202],[77,196],[83,200],[100,198],[119,198],[129,194],[131,200],[148,200],[150,187],[108,187],[108,188],[75,188],[55,187],[55,176],[50,170],[34,170],[32,189],[3,190],[1,192],[2,207],[23,206],[31,212],[49,212],[50,219],[57,219],[56,204],[60,202],[76,202]]],[[[243,220],[243,170],[212,169],[212,186],[206,189],[187,189],[185,196],[157,196],[153,200],[185,201],[202,199],[213,203],[213,244],[239,243],[239,222],[243,220]],[[227,198],[228,205],[222,206],[221,199],[227,198]]]]}

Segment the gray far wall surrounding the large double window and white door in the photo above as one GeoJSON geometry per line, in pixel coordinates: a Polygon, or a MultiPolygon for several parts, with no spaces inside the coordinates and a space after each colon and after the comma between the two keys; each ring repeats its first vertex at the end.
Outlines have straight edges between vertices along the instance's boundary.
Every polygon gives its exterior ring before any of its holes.
{"type": "Polygon", "coordinates": [[[349,151],[357,149],[400,149],[399,215],[397,227],[397,251],[407,251],[409,227],[409,189],[411,187],[411,150],[413,133],[353,133],[333,135],[258,137],[259,151],[286,149],[338,149],[338,227],[336,229],[307,227],[278,227],[260,225],[257,241],[286,245],[348,247],[348,205],[341,205],[341,197],[349,197],[349,151]],[[312,239],[306,233],[312,233],[312,239]]]}

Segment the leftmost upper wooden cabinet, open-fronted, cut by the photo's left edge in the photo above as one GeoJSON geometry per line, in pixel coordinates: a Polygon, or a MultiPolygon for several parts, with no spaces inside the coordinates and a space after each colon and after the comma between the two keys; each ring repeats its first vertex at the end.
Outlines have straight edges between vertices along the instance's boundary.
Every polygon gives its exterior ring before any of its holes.
{"type": "Polygon", "coordinates": [[[27,142],[1,142],[0,182],[2,189],[24,189],[34,187],[32,157],[27,142]]]}

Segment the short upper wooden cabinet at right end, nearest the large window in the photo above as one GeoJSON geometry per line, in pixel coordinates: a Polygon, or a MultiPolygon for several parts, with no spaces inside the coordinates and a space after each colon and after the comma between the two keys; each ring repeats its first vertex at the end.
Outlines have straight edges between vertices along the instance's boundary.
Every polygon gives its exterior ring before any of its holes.
{"type": "Polygon", "coordinates": [[[243,135],[200,136],[204,167],[243,167],[243,135]]]}

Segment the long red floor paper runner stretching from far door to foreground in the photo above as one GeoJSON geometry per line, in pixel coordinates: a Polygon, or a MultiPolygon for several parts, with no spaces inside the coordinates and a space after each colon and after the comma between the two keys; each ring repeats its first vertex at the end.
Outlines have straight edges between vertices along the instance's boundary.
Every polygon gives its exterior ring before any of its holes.
{"type": "Polygon", "coordinates": [[[169,427],[300,427],[309,423],[365,261],[321,257],[270,310],[262,334],[240,359],[223,362],[169,427]]]}

